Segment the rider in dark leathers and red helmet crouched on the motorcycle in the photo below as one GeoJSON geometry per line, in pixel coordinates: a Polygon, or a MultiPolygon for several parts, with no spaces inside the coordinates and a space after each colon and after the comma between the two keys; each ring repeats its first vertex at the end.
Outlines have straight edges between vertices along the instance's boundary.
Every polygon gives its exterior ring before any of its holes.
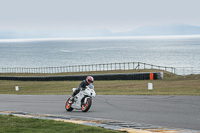
{"type": "Polygon", "coordinates": [[[70,98],[70,101],[72,102],[74,100],[74,96],[76,96],[80,92],[81,88],[85,89],[86,86],[92,84],[93,81],[94,81],[94,78],[92,76],[87,76],[87,78],[83,80],[78,86],[78,88],[76,88],[76,90],[73,92],[72,97],[70,98]]]}

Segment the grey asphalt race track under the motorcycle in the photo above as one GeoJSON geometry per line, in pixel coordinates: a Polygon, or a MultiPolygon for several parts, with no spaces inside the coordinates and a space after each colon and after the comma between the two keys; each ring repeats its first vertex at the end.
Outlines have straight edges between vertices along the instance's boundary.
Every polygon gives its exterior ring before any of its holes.
{"type": "Polygon", "coordinates": [[[0,111],[70,115],[200,131],[200,96],[97,95],[90,110],[65,111],[66,95],[0,95],[0,111]]]}

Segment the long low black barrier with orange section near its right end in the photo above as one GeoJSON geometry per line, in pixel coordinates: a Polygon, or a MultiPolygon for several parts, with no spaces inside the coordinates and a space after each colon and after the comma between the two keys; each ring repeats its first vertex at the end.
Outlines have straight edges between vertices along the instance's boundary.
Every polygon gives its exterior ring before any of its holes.
{"type": "MultiPolygon", "coordinates": [[[[81,81],[88,75],[71,76],[32,76],[32,77],[11,77],[0,76],[0,80],[19,80],[19,81],[81,81]]],[[[157,80],[163,79],[163,72],[147,73],[120,73],[120,74],[94,74],[91,75],[95,80],[157,80]],[[150,78],[151,77],[151,78],[150,78]]]]}

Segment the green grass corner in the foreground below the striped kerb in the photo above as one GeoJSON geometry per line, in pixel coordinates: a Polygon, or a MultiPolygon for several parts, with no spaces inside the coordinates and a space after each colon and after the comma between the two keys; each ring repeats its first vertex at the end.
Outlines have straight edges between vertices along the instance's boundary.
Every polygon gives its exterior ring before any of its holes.
{"type": "Polygon", "coordinates": [[[0,133],[117,133],[113,130],[54,120],[0,115],[0,133]]]}

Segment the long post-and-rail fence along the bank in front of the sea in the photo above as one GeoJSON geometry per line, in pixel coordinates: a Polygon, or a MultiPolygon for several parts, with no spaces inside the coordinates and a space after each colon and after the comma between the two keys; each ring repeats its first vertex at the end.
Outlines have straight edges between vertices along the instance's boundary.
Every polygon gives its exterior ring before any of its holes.
{"type": "Polygon", "coordinates": [[[38,67],[38,68],[0,68],[0,73],[64,73],[64,72],[88,72],[108,70],[134,70],[134,69],[159,69],[175,73],[174,67],[157,66],[142,62],[107,63],[91,65],[75,65],[61,67],[38,67]]]}

